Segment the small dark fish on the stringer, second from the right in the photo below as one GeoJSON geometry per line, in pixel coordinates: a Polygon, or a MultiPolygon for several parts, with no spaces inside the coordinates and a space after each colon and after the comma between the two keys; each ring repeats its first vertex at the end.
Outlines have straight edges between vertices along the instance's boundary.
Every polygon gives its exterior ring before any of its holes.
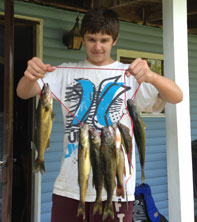
{"type": "Polygon", "coordinates": [[[120,122],[117,123],[117,126],[121,133],[121,144],[124,147],[125,152],[127,154],[129,162],[129,172],[131,174],[132,141],[131,141],[130,130],[127,126],[125,126],[120,122]]]}

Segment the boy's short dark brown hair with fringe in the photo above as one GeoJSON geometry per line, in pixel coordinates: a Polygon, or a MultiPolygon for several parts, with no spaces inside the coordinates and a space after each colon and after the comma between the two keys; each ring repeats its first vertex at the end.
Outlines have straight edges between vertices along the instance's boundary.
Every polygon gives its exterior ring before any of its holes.
{"type": "Polygon", "coordinates": [[[81,35],[85,33],[95,34],[101,32],[111,35],[115,41],[119,34],[119,21],[117,14],[106,8],[90,9],[82,19],[81,35]]]}

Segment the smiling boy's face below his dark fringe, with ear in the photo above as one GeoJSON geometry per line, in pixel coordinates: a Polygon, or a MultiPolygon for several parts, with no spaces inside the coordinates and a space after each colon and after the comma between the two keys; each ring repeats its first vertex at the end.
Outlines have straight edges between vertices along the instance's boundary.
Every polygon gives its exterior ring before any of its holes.
{"type": "Polygon", "coordinates": [[[111,48],[115,45],[111,35],[85,33],[83,44],[86,48],[87,60],[97,66],[108,65],[113,62],[111,48]]]}

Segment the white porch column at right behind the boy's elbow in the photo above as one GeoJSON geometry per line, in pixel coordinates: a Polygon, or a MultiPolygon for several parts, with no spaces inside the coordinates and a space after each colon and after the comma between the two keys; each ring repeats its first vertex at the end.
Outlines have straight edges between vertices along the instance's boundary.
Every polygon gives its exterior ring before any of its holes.
{"type": "Polygon", "coordinates": [[[164,75],[184,96],[166,106],[170,222],[194,221],[186,7],[186,0],[163,0],[164,75]]]}

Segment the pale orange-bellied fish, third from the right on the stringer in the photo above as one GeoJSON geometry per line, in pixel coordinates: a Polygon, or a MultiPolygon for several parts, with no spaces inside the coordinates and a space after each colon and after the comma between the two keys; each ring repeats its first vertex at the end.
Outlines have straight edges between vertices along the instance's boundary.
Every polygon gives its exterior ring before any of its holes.
{"type": "Polygon", "coordinates": [[[125,172],[125,162],[124,162],[124,153],[122,150],[121,144],[121,133],[118,129],[117,124],[113,125],[114,133],[115,133],[115,140],[116,140],[116,179],[117,179],[117,189],[116,195],[122,196],[124,198],[124,174],[125,172]]]}

